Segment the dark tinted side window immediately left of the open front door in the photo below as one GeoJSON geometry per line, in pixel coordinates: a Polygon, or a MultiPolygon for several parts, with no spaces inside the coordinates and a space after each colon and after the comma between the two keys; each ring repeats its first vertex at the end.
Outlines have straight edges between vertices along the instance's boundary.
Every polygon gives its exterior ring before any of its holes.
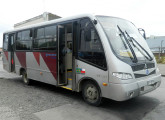
{"type": "Polygon", "coordinates": [[[55,50],[56,49],[56,26],[48,26],[35,30],[34,49],[55,50]]]}

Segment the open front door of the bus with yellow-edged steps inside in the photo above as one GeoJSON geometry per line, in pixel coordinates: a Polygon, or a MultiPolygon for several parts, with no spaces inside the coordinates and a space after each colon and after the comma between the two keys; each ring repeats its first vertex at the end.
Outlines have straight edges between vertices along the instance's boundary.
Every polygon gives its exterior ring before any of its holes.
{"type": "Polygon", "coordinates": [[[72,86],[72,23],[58,25],[58,85],[72,86]]]}

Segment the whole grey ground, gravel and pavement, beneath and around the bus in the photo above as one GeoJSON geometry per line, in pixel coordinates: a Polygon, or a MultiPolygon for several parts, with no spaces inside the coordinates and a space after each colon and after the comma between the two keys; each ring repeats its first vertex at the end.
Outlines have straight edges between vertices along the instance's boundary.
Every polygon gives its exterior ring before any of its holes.
{"type": "Polygon", "coordinates": [[[39,82],[26,86],[19,76],[3,71],[0,61],[0,120],[164,120],[164,81],[146,95],[93,107],[79,93],[39,82]]]}

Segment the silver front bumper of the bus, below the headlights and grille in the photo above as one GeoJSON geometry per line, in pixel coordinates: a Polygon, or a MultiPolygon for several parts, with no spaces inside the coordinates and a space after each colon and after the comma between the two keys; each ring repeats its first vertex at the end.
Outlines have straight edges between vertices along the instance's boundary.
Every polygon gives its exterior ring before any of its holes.
{"type": "Polygon", "coordinates": [[[130,84],[109,84],[102,96],[116,101],[125,101],[151,92],[161,84],[161,75],[146,77],[130,84]]]}

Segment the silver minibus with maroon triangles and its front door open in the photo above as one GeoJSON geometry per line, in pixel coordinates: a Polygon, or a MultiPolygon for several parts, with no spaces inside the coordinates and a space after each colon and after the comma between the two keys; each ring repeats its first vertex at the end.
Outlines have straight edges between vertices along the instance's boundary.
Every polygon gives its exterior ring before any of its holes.
{"type": "Polygon", "coordinates": [[[145,39],[131,22],[80,15],[7,31],[3,67],[32,80],[102,98],[124,101],[155,90],[161,75],[145,39]]]}

